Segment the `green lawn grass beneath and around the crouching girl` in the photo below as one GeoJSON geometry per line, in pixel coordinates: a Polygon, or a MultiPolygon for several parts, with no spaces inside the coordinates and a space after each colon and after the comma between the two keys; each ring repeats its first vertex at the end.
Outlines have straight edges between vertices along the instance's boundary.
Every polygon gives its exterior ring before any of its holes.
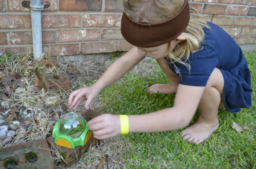
{"type": "MultiPolygon", "coordinates": [[[[245,54],[255,91],[256,54],[245,54]]],[[[150,94],[147,87],[167,83],[160,67],[149,77],[127,73],[103,90],[104,112],[112,114],[145,114],[172,107],[175,94],[150,94]]],[[[256,129],[236,132],[232,123],[256,126],[255,93],[252,107],[240,113],[219,112],[219,128],[206,142],[188,143],[178,135],[180,130],[159,133],[130,133],[125,136],[132,147],[122,152],[126,168],[256,168],[256,129]]],[[[178,113],[178,112],[177,112],[178,113]]],[[[195,114],[190,125],[197,121],[195,114]]],[[[155,121],[157,123],[157,120],[155,121]]],[[[171,121],[170,121],[171,122],[171,121]]]]}

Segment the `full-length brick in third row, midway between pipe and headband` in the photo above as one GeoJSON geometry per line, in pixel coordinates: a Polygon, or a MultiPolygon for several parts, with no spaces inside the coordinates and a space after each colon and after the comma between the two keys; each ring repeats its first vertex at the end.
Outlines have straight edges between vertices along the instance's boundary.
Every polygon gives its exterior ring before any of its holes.
{"type": "Polygon", "coordinates": [[[100,38],[100,29],[59,30],[60,42],[96,41],[100,38]]]}

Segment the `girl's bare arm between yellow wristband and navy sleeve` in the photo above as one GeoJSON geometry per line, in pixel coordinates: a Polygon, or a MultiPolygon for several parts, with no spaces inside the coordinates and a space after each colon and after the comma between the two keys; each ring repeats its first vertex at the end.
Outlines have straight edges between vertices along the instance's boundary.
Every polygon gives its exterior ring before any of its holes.
{"type": "Polygon", "coordinates": [[[173,107],[129,115],[129,132],[161,132],[186,127],[197,110],[204,88],[179,84],[173,107]]]}

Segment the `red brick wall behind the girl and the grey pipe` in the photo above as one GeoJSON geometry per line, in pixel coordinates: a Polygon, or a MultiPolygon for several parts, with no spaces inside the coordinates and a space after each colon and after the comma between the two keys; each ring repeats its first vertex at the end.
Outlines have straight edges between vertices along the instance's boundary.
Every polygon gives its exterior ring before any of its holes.
{"type": "MultiPolygon", "coordinates": [[[[122,37],[122,8],[118,0],[42,0],[43,50],[52,56],[127,51],[122,37]]],[[[30,52],[30,9],[23,0],[0,0],[0,48],[13,54],[30,52]]],[[[256,48],[256,0],[190,0],[210,22],[225,29],[240,45],[256,48]]]]}

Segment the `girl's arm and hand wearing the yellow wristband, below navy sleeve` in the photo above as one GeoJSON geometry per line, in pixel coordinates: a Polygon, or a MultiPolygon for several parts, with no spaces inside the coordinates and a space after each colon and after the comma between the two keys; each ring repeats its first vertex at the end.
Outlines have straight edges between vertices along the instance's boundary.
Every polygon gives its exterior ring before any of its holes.
{"type": "MultiPolygon", "coordinates": [[[[174,106],[152,113],[129,115],[129,132],[161,132],[186,127],[193,118],[205,87],[178,85],[174,106]]],[[[102,114],[87,123],[97,139],[120,134],[120,117],[102,114]]]]}

